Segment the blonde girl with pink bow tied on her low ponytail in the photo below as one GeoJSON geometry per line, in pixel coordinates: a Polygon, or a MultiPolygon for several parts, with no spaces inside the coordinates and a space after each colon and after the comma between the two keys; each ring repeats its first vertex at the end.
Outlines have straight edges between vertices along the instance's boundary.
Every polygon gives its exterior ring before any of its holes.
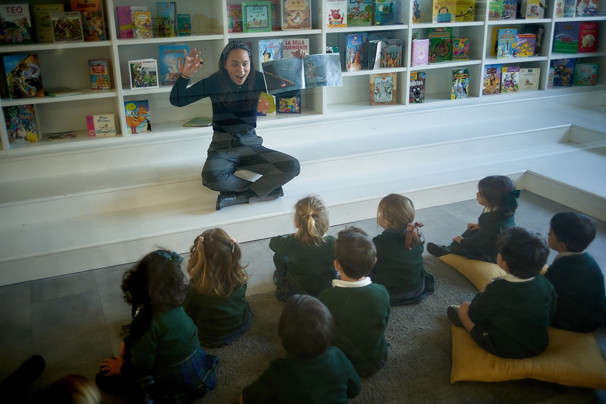
{"type": "Polygon", "coordinates": [[[379,202],[377,223],[384,231],[373,238],[377,262],[368,276],[385,286],[392,306],[420,302],[433,293],[435,278],[423,267],[423,224],[415,222],[415,205],[389,194],[379,202]]]}

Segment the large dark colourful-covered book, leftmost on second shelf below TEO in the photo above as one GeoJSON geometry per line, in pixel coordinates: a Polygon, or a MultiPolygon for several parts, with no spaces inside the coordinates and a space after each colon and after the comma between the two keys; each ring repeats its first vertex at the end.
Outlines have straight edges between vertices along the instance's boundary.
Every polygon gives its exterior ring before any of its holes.
{"type": "Polygon", "coordinates": [[[4,55],[2,59],[10,98],[44,97],[38,55],[4,55]]]}

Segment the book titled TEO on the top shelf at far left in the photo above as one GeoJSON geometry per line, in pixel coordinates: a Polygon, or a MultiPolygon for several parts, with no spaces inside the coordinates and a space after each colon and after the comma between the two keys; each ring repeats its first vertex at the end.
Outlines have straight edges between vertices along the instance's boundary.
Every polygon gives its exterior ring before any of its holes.
{"type": "Polygon", "coordinates": [[[0,34],[3,45],[33,44],[30,8],[24,4],[3,4],[0,18],[0,34]]]}

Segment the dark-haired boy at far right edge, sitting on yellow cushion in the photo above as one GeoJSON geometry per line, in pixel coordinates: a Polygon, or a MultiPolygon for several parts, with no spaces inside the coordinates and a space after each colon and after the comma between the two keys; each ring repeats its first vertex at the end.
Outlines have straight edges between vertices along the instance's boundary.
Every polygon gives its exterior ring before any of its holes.
{"type": "Polygon", "coordinates": [[[596,222],[582,213],[557,213],[551,218],[547,241],[558,251],[545,273],[558,293],[551,319],[556,328],[591,333],[606,319],[604,275],[585,248],[596,237],[596,222]]]}

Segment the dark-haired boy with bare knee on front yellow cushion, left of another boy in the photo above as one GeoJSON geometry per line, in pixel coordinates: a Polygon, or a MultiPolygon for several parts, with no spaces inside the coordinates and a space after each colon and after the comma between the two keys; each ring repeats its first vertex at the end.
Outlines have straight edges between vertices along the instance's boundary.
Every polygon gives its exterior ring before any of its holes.
{"type": "Polygon", "coordinates": [[[547,327],[556,310],[553,286],[540,274],[549,247],[539,234],[510,227],[497,248],[497,263],[507,274],[484,286],[471,303],[448,307],[448,319],[495,356],[536,356],[547,348],[547,327]]]}

